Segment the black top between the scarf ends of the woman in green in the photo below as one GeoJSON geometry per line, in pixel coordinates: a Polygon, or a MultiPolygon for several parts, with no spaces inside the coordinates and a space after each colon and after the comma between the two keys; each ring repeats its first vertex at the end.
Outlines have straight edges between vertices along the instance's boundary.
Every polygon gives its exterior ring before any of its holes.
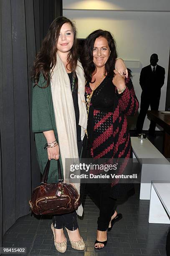
{"type": "MultiPolygon", "coordinates": [[[[72,88],[73,83],[73,72],[67,73],[70,79],[70,86],[72,88]]],[[[77,130],[77,141],[81,141],[81,126],[79,125],[79,105],[78,105],[78,88],[74,83],[74,90],[72,92],[73,103],[74,103],[74,112],[76,117],[76,130],[77,130]]]]}

